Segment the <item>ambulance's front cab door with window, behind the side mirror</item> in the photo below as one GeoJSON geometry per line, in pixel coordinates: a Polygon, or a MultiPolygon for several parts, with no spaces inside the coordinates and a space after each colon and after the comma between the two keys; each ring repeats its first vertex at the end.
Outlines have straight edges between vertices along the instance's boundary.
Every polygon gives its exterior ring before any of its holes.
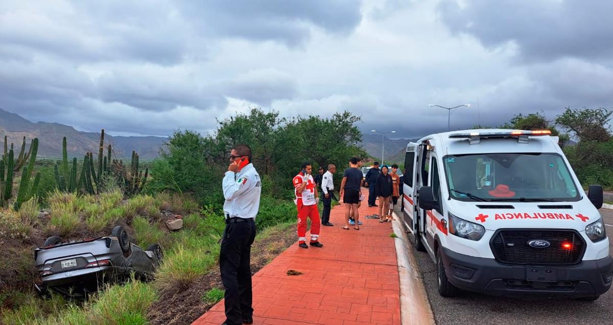
{"type": "Polygon", "coordinates": [[[447,223],[443,220],[443,208],[441,204],[441,178],[439,175],[440,168],[434,152],[430,154],[430,162],[428,162],[428,166],[428,184],[432,187],[434,196],[438,200],[439,206],[441,206],[440,211],[428,210],[426,211],[425,215],[426,240],[430,250],[433,250],[436,231],[439,230],[446,233],[447,223]]]}

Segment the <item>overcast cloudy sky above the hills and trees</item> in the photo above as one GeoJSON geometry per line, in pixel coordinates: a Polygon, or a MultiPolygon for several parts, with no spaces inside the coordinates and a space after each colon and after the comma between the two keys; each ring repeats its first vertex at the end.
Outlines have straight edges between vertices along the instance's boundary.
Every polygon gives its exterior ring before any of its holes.
{"type": "Polygon", "coordinates": [[[613,108],[613,1],[0,2],[0,108],[115,135],[250,107],[414,137],[613,108]]]}

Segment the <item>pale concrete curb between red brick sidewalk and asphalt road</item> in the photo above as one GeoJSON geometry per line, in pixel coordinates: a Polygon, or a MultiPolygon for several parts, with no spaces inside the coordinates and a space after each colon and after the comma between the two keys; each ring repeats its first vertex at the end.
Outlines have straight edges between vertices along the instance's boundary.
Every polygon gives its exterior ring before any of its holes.
{"type": "Polygon", "coordinates": [[[394,239],[400,277],[400,318],[402,324],[436,324],[428,294],[424,288],[413,252],[408,249],[408,237],[402,219],[394,212],[394,239]]]}

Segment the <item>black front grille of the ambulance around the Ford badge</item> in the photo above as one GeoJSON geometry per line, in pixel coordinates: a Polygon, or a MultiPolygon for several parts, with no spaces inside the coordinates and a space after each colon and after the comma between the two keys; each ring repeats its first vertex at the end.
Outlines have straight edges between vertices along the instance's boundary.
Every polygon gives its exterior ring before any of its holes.
{"type": "Polygon", "coordinates": [[[568,265],[581,262],[585,241],[574,230],[498,230],[490,241],[500,263],[530,265],[568,265]],[[549,247],[535,248],[532,240],[547,241],[549,247]]]}

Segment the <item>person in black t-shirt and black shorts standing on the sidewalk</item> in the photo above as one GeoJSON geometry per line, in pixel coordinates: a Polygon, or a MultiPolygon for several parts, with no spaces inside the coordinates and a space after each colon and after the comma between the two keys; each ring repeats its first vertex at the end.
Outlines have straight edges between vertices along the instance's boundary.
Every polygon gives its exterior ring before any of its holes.
{"type": "MultiPolygon", "coordinates": [[[[341,197],[345,202],[345,225],[343,229],[349,230],[349,216],[353,216],[356,223],[360,220],[360,215],[357,212],[357,204],[360,200],[360,183],[362,182],[362,172],[357,169],[358,159],[352,157],[349,159],[349,168],[343,174],[341,181],[341,197]]],[[[355,230],[360,230],[359,225],[354,225],[355,230]]]]}

